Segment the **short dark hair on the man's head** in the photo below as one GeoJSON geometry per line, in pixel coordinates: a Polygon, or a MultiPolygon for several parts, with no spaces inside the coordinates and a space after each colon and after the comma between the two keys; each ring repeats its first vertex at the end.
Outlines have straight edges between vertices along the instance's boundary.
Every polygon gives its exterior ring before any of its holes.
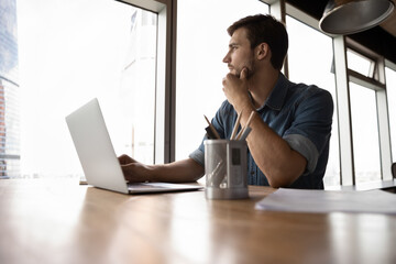
{"type": "Polygon", "coordinates": [[[270,14],[256,14],[243,18],[227,29],[232,34],[240,28],[248,30],[248,40],[251,48],[265,42],[268,44],[272,57],[271,63],[274,68],[280,69],[288,48],[288,36],[285,25],[270,14]]]}

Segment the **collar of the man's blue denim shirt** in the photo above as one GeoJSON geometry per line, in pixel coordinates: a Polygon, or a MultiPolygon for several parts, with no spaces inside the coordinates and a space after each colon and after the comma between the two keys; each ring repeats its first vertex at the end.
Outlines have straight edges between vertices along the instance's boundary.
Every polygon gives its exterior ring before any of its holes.
{"type": "Polygon", "coordinates": [[[282,73],[279,73],[279,77],[275,84],[274,89],[271,91],[268,98],[266,99],[264,105],[257,109],[257,111],[264,109],[265,106],[279,111],[285,102],[288,88],[288,79],[282,73]]]}

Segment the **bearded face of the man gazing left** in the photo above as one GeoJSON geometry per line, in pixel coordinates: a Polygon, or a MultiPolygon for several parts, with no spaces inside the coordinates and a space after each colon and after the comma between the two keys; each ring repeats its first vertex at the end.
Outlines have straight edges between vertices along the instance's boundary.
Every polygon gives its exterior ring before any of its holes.
{"type": "Polygon", "coordinates": [[[254,53],[244,28],[232,34],[223,63],[228,64],[230,73],[235,76],[240,76],[243,68],[248,68],[248,78],[254,74],[254,53]]]}

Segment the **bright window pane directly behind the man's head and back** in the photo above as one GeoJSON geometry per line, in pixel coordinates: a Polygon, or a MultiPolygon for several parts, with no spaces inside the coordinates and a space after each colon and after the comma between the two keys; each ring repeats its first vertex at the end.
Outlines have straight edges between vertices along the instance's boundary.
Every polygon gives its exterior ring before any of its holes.
{"type": "Polygon", "coordinates": [[[289,79],[294,82],[316,85],[330,91],[334,102],[330,153],[324,174],[324,186],[340,185],[338,111],[334,75],[331,73],[332,40],[319,31],[286,16],[289,35],[289,79]]]}

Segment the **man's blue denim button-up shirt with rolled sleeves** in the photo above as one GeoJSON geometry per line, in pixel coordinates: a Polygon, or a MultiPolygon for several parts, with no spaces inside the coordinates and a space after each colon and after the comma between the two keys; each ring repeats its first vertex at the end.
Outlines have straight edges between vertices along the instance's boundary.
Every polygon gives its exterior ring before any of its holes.
{"type": "MultiPolygon", "coordinates": [[[[283,74],[265,101],[256,110],[263,121],[289,146],[307,160],[305,173],[289,187],[323,189],[323,175],[329,157],[333,101],[330,92],[316,86],[294,84],[283,74]]],[[[238,113],[227,100],[212,119],[222,139],[230,139],[238,113]]],[[[205,166],[205,135],[189,157],[205,166]]],[[[248,150],[248,184],[268,186],[268,180],[248,150]]]]}

